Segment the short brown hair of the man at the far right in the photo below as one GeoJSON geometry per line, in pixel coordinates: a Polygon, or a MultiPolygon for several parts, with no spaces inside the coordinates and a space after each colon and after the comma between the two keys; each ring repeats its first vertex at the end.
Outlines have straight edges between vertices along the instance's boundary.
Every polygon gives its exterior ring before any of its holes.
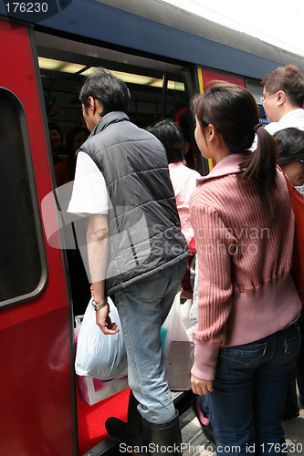
{"type": "Polygon", "coordinates": [[[304,103],[304,78],[294,65],[278,67],[261,82],[269,95],[283,90],[293,106],[302,108],[304,103]]]}

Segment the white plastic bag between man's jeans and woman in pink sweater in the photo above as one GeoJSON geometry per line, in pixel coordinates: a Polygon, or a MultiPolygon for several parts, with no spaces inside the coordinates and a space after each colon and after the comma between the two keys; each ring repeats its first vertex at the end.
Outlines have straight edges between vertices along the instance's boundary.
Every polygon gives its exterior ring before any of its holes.
{"type": "Polygon", "coordinates": [[[162,328],[166,331],[163,360],[169,388],[183,391],[191,389],[191,368],[194,364],[194,340],[184,326],[181,299],[178,293],[162,328]]]}

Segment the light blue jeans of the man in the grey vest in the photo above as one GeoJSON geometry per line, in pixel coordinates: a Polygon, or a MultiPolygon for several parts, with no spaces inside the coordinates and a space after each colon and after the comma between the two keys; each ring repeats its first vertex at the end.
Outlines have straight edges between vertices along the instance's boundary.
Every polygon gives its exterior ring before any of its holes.
{"type": "Polygon", "coordinates": [[[165,378],[161,327],[181,289],[187,259],[115,293],[128,355],[129,385],[142,417],[173,420],[175,409],[165,378]]]}

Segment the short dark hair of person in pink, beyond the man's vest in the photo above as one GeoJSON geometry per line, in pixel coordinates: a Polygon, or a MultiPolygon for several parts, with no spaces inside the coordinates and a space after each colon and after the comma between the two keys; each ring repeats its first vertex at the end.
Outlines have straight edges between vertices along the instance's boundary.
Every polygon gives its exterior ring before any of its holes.
{"type": "Polygon", "coordinates": [[[183,161],[183,133],[177,123],[164,119],[147,129],[162,142],[168,163],[183,161]]]}

